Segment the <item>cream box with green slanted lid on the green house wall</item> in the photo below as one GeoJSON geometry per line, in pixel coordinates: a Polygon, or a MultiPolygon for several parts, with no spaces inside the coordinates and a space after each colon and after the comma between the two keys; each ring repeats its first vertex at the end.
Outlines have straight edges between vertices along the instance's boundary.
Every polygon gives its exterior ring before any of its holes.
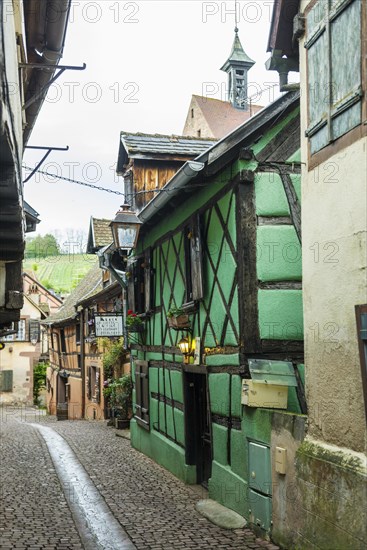
{"type": "Polygon", "coordinates": [[[249,359],[249,369],[251,379],[242,381],[242,405],[286,409],[288,387],[297,386],[292,363],[249,359]]]}

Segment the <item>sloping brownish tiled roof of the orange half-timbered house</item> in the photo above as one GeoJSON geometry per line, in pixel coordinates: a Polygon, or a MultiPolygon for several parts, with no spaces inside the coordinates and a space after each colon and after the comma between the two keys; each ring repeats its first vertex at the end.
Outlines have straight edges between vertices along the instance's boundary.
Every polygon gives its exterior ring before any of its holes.
{"type": "Polygon", "coordinates": [[[96,263],[87,272],[75,290],[73,290],[73,292],[65,299],[64,305],[57,313],[54,313],[48,317],[45,324],[51,325],[54,323],[62,323],[69,319],[74,319],[77,315],[75,306],[81,300],[85,300],[86,298],[97,294],[102,290],[102,288],[102,270],[99,267],[99,262],[96,260],[96,263]]]}

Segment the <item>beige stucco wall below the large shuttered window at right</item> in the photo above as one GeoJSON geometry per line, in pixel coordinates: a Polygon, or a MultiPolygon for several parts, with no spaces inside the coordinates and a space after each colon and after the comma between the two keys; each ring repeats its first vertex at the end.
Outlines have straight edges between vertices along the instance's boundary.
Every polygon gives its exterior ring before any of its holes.
{"type": "MultiPolygon", "coordinates": [[[[303,2],[304,10],[308,2],[303,2]]],[[[309,433],[365,448],[354,306],[366,303],[367,139],[308,169],[306,50],[301,54],[302,236],[309,433]]]]}

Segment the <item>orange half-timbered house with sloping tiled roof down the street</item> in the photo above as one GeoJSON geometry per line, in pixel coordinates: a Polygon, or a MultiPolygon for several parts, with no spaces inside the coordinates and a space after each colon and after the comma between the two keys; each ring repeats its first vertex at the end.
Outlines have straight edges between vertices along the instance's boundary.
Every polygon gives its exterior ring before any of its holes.
{"type": "Polygon", "coordinates": [[[95,316],[121,308],[120,285],[106,277],[97,263],[45,323],[50,351],[47,409],[58,420],[108,416],[103,394],[105,349],[103,339],[96,337],[95,316]]]}

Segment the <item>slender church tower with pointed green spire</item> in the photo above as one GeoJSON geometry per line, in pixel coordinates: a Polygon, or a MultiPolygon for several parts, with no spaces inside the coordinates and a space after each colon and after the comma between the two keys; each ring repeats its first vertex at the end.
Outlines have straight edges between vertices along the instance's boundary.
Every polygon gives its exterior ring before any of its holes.
{"type": "Polygon", "coordinates": [[[255,65],[255,61],[250,59],[242,48],[237,27],[234,32],[232,51],[223,67],[221,67],[221,71],[226,72],[228,75],[228,100],[236,109],[247,111],[249,108],[247,103],[247,73],[255,65]]]}

